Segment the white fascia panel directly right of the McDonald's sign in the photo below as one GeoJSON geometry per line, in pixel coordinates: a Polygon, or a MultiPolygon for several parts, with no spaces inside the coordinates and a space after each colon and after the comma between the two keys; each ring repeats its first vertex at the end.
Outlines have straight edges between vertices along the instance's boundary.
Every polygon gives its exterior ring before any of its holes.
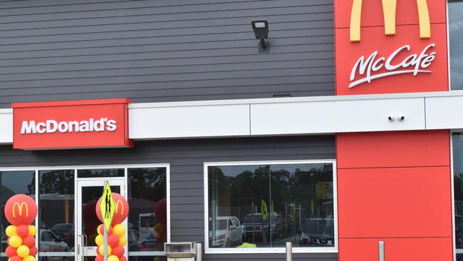
{"type": "Polygon", "coordinates": [[[129,138],[249,135],[249,104],[130,108],[129,138]]]}

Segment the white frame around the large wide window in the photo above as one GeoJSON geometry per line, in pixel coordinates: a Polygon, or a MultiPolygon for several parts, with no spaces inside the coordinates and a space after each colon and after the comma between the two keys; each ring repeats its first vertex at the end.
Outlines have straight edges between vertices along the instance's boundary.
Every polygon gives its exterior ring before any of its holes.
{"type": "Polygon", "coordinates": [[[331,163],[333,165],[333,215],[334,215],[334,247],[293,247],[293,253],[337,253],[339,247],[338,236],[338,180],[336,160],[259,160],[259,161],[226,161],[226,162],[205,162],[204,163],[204,252],[207,254],[227,253],[284,253],[285,247],[209,247],[209,173],[207,169],[212,166],[221,165],[290,165],[290,164],[316,164],[331,163]]]}

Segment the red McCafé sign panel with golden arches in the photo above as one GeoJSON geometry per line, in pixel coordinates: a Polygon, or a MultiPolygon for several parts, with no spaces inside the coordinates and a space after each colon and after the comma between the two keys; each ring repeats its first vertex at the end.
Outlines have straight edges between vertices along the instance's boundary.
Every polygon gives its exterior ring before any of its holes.
{"type": "Polygon", "coordinates": [[[445,0],[335,0],[336,93],[448,91],[445,0]]]}

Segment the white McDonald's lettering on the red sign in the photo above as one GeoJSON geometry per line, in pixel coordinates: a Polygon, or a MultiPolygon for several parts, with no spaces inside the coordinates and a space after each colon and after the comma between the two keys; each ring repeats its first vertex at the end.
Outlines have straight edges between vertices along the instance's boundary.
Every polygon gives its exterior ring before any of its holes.
{"type": "Polygon", "coordinates": [[[83,133],[93,131],[115,131],[118,128],[115,120],[100,118],[99,120],[90,118],[88,121],[54,121],[45,122],[23,121],[21,134],[31,133],[83,133]]]}

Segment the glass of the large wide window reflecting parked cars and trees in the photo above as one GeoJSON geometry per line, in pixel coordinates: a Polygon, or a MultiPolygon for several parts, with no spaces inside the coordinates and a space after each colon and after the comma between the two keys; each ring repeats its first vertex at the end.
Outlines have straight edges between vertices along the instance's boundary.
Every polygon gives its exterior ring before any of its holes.
{"type": "Polygon", "coordinates": [[[209,247],[334,247],[331,163],[207,171],[209,247]]]}

